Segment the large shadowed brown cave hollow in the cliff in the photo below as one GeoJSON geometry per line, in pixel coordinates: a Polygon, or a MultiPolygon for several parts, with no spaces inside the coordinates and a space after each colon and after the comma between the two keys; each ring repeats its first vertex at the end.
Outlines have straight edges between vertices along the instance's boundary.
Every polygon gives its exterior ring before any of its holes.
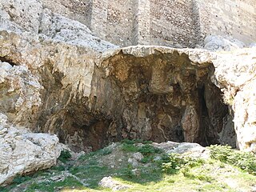
{"type": "Polygon", "coordinates": [[[178,51],[146,57],[120,51],[94,67],[89,97],[63,90],[61,74],[43,73],[52,79],[42,82],[52,104],[42,106],[38,127],[58,134],[72,150],[90,152],[124,138],[235,146],[229,107],[211,81],[210,62],[193,63],[178,51]]]}

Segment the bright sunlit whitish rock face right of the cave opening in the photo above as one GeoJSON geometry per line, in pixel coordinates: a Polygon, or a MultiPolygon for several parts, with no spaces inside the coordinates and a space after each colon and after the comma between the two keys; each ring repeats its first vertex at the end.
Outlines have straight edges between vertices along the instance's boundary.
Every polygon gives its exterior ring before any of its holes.
{"type": "Polygon", "coordinates": [[[238,147],[256,151],[255,67],[256,48],[218,54],[213,61],[216,67],[216,84],[224,92],[224,100],[234,110],[234,128],[238,147]]]}

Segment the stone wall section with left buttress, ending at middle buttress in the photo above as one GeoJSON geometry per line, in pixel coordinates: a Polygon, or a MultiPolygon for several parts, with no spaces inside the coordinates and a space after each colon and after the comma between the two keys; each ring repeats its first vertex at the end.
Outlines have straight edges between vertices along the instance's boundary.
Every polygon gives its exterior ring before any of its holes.
{"type": "Polygon", "coordinates": [[[93,0],[90,29],[96,36],[118,44],[134,44],[134,0],[93,0]]]}

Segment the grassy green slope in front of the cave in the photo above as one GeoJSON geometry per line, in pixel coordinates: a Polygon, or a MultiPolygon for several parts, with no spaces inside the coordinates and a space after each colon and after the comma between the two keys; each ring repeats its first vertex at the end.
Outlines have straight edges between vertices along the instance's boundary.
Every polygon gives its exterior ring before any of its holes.
{"type": "Polygon", "coordinates": [[[18,189],[17,191],[27,192],[36,190],[42,192],[111,191],[98,186],[98,182],[108,176],[130,186],[124,191],[235,192],[238,189],[232,186],[234,184],[237,184],[241,191],[250,191],[251,186],[256,185],[256,176],[250,171],[251,165],[254,165],[251,164],[254,163],[252,158],[254,156],[250,156],[251,154],[243,154],[230,147],[214,146],[214,150],[211,150],[212,158],[201,159],[180,154],[165,154],[162,150],[150,146],[149,143],[144,146],[137,144],[138,141],[134,140],[124,141],[118,144],[117,148],[106,147],[103,150],[82,155],[77,161],[67,158],[65,164],[60,163],[50,170],[39,171],[26,177],[19,176],[14,179],[14,184],[0,188],[0,191],[7,192],[14,188],[18,189]],[[120,149],[119,152],[114,154],[117,149],[120,149]],[[137,167],[131,166],[127,159],[115,167],[108,164],[111,160],[109,158],[113,155],[123,156],[135,152],[144,155],[137,167]],[[240,153],[243,155],[241,156],[240,153]],[[233,158],[230,158],[230,154],[233,158]],[[247,161],[243,157],[246,157],[247,161]],[[234,158],[238,158],[239,165],[243,162],[243,165],[250,169],[230,165],[229,159],[234,161],[234,158]],[[65,173],[68,174],[63,178],[60,176],[61,180],[51,179],[53,176],[65,175],[65,173]],[[23,186],[17,186],[20,183],[23,186]],[[86,183],[86,186],[83,186],[83,183],[86,183]]]}

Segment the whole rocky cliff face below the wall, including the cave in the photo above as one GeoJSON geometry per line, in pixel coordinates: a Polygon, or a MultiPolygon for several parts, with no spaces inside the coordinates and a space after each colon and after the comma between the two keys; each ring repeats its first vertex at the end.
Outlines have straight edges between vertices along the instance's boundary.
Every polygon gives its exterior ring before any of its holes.
{"type": "Polygon", "coordinates": [[[0,1],[0,112],[13,125],[74,150],[122,138],[256,150],[255,48],[118,48],[31,3],[0,1]]]}

